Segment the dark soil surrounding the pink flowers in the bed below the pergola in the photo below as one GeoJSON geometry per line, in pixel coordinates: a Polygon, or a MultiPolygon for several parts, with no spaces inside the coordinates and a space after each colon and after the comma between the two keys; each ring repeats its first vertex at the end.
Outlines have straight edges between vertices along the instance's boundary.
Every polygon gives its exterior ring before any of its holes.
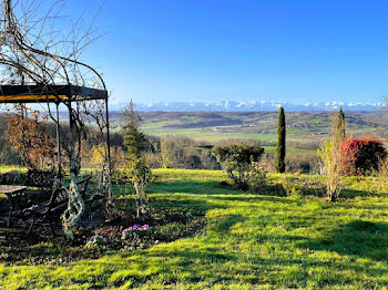
{"type": "Polygon", "coordinates": [[[141,219],[131,213],[122,218],[100,222],[94,227],[74,230],[74,239],[67,240],[61,225],[55,226],[55,238],[48,225],[40,225],[34,232],[27,235],[23,227],[0,227],[0,261],[13,265],[61,265],[82,259],[99,258],[116,251],[132,251],[149,248],[160,242],[192,236],[206,224],[205,213],[200,209],[151,208],[141,219]],[[135,224],[149,225],[147,235],[131,240],[122,239],[122,231],[135,224]],[[85,248],[90,237],[102,235],[108,239],[103,247],[85,248]]]}

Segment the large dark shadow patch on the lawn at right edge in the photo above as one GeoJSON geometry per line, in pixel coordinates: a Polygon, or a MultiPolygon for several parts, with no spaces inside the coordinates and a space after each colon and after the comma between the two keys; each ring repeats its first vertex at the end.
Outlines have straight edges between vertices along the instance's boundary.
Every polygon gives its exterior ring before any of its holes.
{"type": "Polygon", "coordinates": [[[323,239],[312,239],[300,244],[303,248],[335,251],[369,258],[388,260],[388,224],[355,220],[345,224],[323,239]]]}

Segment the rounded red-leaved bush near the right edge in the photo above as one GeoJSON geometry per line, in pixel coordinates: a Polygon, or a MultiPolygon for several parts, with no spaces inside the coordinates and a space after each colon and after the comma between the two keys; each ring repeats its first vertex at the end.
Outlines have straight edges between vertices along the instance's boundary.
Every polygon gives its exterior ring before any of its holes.
{"type": "Polygon", "coordinates": [[[382,142],[371,137],[347,138],[341,144],[344,175],[364,176],[378,170],[387,157],[382,142]]]}

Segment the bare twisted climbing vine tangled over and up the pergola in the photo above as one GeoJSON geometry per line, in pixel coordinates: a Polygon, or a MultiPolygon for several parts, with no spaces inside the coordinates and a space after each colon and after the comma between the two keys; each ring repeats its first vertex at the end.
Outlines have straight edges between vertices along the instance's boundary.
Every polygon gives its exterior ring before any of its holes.
{"type": "Polygon", "coordinates": [[[62,184],[59,106],[67,106],[71,182],[67,189],[69,206],[63,214],[63,225],[67,236],[72,238],[71,228],[84,210],[84,201],[76,187],[76,176],[80,172],[81,135],[85,130],[85,121],[90,117],[96,121],[101,135],[105,138],[103,186],[108,200],[112,200],[109,94],[101,74],[79,61],[83,49],[93,40],[93,31],[88,29],[79,37],[79,30],[73,28],[68,35],[58,34],[53,29],[53,21],[59,12],[55,10],[58,2],[60,1],[53,2],[44,17],[37,18],[40,4],[33,0],[2,1],[0,103],[39,103],[47,107],[51,120],[57,124],[59,184],[62,184]],[[53,110],[57,110],[57,114],[53,110]]]}

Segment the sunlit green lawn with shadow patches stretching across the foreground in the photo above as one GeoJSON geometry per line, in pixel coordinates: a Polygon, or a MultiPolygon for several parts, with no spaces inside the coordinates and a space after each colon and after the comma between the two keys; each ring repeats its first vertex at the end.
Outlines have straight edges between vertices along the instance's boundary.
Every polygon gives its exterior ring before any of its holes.
{"type": "MultiPolygon", "coordinates": [[[[329,204],[315,197],[221,187],[226,179],[222,172],[159,169],[155,175],[156,183],[149,188],[155,203],[206,210],[207,225],[200,234],[58,267],[0,265],[0,289],[385,289],[388,284],[388,196],[377,193],[371,178],[349,178],[346,198],[329,204]]],[[[278,178],[283,177],[269,176],[272,183],[278,178]]]]}

